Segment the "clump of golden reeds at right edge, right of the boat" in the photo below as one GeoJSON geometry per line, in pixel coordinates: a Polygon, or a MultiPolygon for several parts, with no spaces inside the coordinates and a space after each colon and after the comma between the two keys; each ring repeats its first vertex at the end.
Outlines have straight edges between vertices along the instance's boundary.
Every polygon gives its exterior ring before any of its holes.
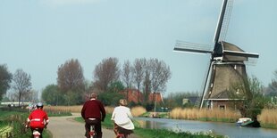
{"type": "Polygon", "coordinates": [[[277,128],[277,110],[262,110],[261,115],[257,116],[258,121],[260,121],[261,126],[267,128],[277,128]]]}

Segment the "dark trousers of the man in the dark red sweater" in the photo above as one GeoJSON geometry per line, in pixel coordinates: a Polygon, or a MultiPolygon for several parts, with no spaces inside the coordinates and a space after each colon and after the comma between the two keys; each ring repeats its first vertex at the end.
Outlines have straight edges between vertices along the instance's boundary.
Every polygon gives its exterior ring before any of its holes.
{"type": "Polygon", "coordinates": [[[94,126],[95,133],[97,134],[97,138],[102,138],[102,128],[101,128],[101,120],[95,119],[85,119],[85,128],[86,128],[86,136],[89,138],[88,132],[90,131],[90,126],[94,126]]]}

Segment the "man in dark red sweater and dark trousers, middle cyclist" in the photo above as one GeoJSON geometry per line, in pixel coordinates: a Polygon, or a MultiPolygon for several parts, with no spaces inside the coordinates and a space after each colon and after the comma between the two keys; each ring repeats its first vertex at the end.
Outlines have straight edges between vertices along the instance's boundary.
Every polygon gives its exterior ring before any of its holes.
{"type": "Polygon", "coordinates": [[[89,137],[90,126],[95,126],[97,138],[102,138],[101,121],[105,119],[105,108],[101,101],[97,100],[97,94],[91,93],[90,100],[86,101],[81,110],[81,116],[85,119],[85,136],[89,137]]]}

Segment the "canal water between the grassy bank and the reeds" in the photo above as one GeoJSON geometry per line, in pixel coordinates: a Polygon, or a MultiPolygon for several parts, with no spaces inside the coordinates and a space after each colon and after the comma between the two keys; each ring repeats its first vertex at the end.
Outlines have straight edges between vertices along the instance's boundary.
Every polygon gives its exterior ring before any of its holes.
{"type": "Polygon", "coordinates": [[[277,130],[239,127],[234,123],[214,123],[166,118],[136,118],[140,126],[151,129],[168,129],[175,132],[206,132],[227,135],[230,138],[276,138],[277,130]]]}

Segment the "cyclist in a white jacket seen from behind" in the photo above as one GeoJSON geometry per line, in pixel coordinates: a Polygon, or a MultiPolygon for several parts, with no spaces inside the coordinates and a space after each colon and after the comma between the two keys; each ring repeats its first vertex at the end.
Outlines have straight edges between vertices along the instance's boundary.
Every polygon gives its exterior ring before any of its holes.
{"type": "Polygon", "coordinates": [[[127,101],[121,99],[119,103],[120,106],[114,108],[111,118],[114,121],[113,132],[116,134],[116,138],[119,137],[119,134],[124,134],[124,137],[127,138],[129,134],[133,133],[133,129],[135,129],[131,121],[133,117],[130,109],[127,107],[127,101]]]}

